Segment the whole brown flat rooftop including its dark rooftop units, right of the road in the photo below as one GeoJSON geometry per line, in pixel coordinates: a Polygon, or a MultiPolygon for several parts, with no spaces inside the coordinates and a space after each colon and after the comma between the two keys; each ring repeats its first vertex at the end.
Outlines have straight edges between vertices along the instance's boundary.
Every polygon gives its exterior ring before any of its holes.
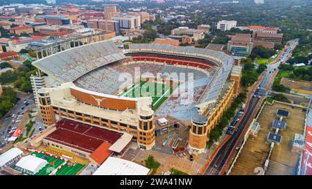
{"type": "Polygon", "coordinates": [[[298,152],[302,150],[302,141],[297,141],[304,132],[305,111],[302,109],[280,102],[266,103],[257,119],[260,125],[257,134],[250,132],[229,174],[296,174],[298,152]],[[278,116],[280,111],[286,112],[286,116],[278,116]]]}

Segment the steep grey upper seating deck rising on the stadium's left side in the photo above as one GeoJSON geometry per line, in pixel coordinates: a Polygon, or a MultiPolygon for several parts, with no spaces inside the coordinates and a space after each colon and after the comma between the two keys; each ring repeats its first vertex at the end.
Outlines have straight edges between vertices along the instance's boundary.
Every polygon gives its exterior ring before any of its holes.
{"type": "Polygon", "coordinates": [[[59,82],[73,82],[89,71],[124,58],[113,42],[103,41],[49,55],[33,62],[33,66],[59,82]]]}

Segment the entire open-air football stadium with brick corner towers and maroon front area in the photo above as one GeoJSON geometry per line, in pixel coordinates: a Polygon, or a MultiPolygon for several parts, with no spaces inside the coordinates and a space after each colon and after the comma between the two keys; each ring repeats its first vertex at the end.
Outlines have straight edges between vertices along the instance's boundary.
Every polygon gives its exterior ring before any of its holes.
{"type": "Polygon", "coordinates": [[[111,41],[43,57],[33,62],[38,72],[31,82],[44,124],[55,128],[37,138],[83,156],[92,156],[103,142],[121,153],[129,138],[151,150],[156,136],[178,123],[178,129],[189,129],[189,151],[201,153],[238,93],[241,76],[233,62],[205,48],[130,44],[121,51],[111,41]],[[78,127],[83,130],[77,133],[78,127]],[[103,130],[116,134],[105,138],[103,130]],[[70,133],[80,139],[70,139],[70,133]]]}

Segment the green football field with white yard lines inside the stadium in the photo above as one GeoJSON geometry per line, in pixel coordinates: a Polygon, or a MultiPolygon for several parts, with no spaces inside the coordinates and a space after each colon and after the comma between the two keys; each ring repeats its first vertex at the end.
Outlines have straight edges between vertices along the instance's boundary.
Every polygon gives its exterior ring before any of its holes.
{"type": "Polygon", "coordinates": [[[164,102],[171,93],[177,88],[177,82],[153,82],[153,81],[146,81],[140,80],[132,84],[131,87],[125,89],[119,96],[125,97],[143,97],[143,96],[150,96],[153,100],[153,110],[156,110],[162,102],[164,102]]]}

